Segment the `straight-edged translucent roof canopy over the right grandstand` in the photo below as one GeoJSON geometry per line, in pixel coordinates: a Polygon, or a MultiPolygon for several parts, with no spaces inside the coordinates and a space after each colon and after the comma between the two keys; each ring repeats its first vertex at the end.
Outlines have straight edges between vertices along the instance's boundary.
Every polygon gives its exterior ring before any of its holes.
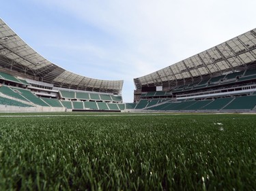
{"type": "Polygon", "coordinates": [[[203,80],[205,77],[242,71],[255,60],[256,29],[253,29],[178,63],[137,77],[134,84],[137,89],[143,86],[171,88],[186,82],[203,80]]]}

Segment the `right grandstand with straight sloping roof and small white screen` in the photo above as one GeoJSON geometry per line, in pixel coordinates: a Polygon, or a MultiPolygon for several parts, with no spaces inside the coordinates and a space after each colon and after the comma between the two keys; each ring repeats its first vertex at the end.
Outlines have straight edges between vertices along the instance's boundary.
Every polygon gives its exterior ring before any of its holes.
{"type": "Polygon", "coordinates": [[[137,77],[134,84],[134,101],[147,110],[255,112],[256,29],[137,77]]]}

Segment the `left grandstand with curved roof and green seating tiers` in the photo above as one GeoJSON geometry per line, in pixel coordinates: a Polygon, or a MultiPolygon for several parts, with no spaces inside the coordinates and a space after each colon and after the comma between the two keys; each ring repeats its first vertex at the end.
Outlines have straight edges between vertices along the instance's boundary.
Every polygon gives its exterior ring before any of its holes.
{"type": "Polygon", "coordinates": [[[120,111],[123,83],[85,77],[51,63],[0,19],[1,111],[120,111]]]}

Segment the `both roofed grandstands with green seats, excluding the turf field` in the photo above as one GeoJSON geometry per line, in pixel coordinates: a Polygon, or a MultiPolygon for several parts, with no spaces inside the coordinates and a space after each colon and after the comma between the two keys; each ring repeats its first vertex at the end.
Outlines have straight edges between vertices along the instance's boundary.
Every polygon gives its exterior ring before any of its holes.
{"type": "Polygon", "coordinates": [[[98,80],[59,67],[0,19],[0,111],[255,112],[256,29],[134,78],[98,80]]]}

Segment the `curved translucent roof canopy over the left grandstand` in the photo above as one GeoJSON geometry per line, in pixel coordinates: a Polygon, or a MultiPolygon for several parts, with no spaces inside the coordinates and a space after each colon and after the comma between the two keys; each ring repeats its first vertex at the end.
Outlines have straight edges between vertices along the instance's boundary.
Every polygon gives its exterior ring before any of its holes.
{"type": "Polygon", "coordinates": [[[63,88],[121,93],[123,80],[98,80],[66,71],[35,52],[0,18],[0,67],[63,88]]]}

